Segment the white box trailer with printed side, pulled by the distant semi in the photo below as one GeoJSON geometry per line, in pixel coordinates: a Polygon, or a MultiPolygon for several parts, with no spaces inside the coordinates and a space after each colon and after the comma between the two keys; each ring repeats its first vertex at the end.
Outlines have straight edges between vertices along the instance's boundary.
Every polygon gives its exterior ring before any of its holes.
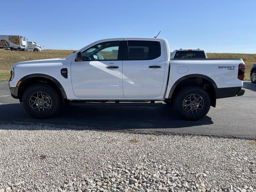
{"type": "Polygon", "coordinates": [[[0,48],[24,51],[26,38],[20,35],[0,35],[0,48]]]}

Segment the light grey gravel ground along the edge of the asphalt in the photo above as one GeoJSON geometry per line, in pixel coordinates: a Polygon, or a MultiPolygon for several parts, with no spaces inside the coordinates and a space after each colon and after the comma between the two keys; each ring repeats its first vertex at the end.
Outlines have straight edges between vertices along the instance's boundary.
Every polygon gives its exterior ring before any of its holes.
{"type": "Polygon", "coordinates": [[[256,191],[256,142],[0,125],[0,192],[256,191]]]}

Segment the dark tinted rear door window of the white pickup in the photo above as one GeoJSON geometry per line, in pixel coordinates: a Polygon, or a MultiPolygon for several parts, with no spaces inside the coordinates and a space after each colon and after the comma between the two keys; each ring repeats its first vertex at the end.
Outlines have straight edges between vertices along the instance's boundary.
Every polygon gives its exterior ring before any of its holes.
{"type": "Polygon", "coordinates": [[[152,60],[161,55],[158,41],[128,41],[125,60],[152,60]]]}

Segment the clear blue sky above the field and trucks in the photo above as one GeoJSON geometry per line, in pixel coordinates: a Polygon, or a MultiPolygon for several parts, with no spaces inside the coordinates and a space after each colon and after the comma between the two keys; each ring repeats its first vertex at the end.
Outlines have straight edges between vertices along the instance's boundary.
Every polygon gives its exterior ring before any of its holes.
{"type": "Polygon", "coordinates": [[[1,0],[1,7],[1,35],[24,35],[46,49],[161,30],[171,51],[256,53],[256,0],[1,0]]]}

